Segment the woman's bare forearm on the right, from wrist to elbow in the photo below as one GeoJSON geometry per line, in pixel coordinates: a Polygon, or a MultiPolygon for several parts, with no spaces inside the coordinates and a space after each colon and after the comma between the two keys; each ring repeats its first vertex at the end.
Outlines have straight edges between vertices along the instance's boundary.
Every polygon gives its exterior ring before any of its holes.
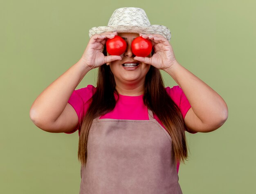
{"type": "Polygon", "coordinates": [[[216,121],[227,119],[228,108],[224,99],[201,79],[178,62],[164,71],[171,75],[182,88],[195,115],[202,123],[209,123],[213,119],[216,119],[216,121]]]}

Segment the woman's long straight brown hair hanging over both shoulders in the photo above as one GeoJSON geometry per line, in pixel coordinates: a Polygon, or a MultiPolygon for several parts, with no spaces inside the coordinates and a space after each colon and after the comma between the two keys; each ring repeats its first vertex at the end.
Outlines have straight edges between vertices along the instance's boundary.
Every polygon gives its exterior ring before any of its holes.
{"type": "MultiPolygon", "coordinates": [[[[106,45],[104,46],[103,53],[105,56],[107,55],[106,45]]],[[[154,51],[151,54],[153,55],[154,51]]],[[[115,108],[116,100],[114,93],[118,95],[115,86],[115,79],[110,66],[103,64],[99,67],[98,71],[97,90],[90,99],[90,107],[81,124],[78,147],[78,159],[81,165],[86,165],[88,134],[93,119],[100,115],[105,115],[115,108]]],[[[164,88],[164,82],[159,69],[152,65],[146,74],[143,101],[145,106],[152,110],[162,121],[168,134],[170,134],[176,161],[184,163],[184,159],[186,160],[188,157],[185,136],[187,128],[180,109],[164,88]]]]}

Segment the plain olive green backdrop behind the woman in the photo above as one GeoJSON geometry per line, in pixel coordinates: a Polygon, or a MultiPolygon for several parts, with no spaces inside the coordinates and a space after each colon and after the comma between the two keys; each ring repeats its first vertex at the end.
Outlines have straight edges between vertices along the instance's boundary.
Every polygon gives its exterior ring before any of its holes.
{"type": "MultiPolygon", "coordinates": [[[[218,130],[189,134],[180,164],[184,194],[255,193],[256,2],[254,0],[8,0],[0,2],[0,190],[75,194],[78,131],[49,133],[29,117],[36,97],[83,54],[88,31],[119,7],[140,7],[171,30],[178,62],[226,101],[218,130]]],[[[166,86],[177,83],[162,72],[166,86]]],[[[96,84],[97,69],[76,89],[96,84]]],[[[198,94],[200,95],[200,94],[198,94]]]]}

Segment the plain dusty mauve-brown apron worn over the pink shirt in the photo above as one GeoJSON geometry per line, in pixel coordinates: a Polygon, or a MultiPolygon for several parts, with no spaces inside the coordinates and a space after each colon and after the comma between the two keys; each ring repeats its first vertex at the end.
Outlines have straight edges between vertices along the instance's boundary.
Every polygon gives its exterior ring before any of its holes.
{"type": "Polygon", "coordinates": [[[79,194],[182,194],[171,136],[148,117],[92,121],[79,194]]]}

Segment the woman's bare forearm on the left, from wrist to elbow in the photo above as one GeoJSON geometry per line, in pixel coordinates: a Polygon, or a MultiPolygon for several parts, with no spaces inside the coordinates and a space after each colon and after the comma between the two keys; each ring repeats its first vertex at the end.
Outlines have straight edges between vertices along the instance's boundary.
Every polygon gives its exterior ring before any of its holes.
{"type": "Polygon", "coordinates": [[[90,68],[80,60],[58,77],[36,98],[30,108],[30,118],[34,122],[54,122],[67,105],[72,92],[90,68]]]}

